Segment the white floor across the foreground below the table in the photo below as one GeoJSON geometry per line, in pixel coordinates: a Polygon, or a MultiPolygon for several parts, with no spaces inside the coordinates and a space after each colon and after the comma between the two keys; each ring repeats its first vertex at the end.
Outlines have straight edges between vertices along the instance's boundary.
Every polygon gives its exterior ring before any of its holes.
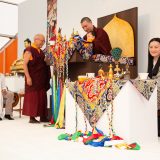
{"type": "MultiPolygon", "coordinates": [[[[14,115],[17,114],[14,113],[14,115]]],[[[94,148],[78,142],[59,141],[64,130],[29,124],[28,117],[0,121],[0,160],[159,160],[157,144],[141,146],[140,151],[94,148]]]]}

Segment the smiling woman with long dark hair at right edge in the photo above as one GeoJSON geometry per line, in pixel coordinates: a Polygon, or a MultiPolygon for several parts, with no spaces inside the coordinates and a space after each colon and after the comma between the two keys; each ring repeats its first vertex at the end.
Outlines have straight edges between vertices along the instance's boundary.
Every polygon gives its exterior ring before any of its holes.
{"type": "MultiPolygon", "coordinates": [[[[152,38],[148,44],[148,73],[157,80],[158,112],[160,112],[160,38],[152,38]]],[[[158,135],[160,136],[160,115],[158,117],[158,135]]]]}

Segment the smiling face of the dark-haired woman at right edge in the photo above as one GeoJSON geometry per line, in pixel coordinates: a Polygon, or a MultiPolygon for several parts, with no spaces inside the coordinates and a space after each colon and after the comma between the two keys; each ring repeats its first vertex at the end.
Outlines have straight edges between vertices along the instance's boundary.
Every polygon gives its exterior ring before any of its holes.
{"type": "Polygon", "coordinates": [[[153,41],[149,44],[149,52],[152,57],[160,56],[160,43],[157,41],[153,41]]]}

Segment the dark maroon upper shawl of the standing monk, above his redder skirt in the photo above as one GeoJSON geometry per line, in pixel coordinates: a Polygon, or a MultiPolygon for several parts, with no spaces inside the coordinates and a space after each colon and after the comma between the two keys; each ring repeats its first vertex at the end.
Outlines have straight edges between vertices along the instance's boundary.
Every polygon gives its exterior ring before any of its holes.
{"type": "Polygon", "coordinates": [[[32,79],[32,86],[28,86],[25,79],[25,92],[37,91],[50,88],[50,67],[46,65],[44,58],[45,55],[42,50],[40,53],[34,47],[28,47],[25,51],[32,54],[33,59],[28,63],[28,71],[32,79]]]}

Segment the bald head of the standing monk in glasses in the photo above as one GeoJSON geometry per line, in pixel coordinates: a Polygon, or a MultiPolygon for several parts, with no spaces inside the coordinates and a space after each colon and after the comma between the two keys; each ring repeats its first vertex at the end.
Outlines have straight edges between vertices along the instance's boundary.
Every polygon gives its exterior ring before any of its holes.
{"type": "Polygon", "coordinates": [[[43,34],[36,34],[34,36],[34,44],[37,46],[37,48],[42,48],[42,46],[45,43],[45,37],[43,34]]]}

